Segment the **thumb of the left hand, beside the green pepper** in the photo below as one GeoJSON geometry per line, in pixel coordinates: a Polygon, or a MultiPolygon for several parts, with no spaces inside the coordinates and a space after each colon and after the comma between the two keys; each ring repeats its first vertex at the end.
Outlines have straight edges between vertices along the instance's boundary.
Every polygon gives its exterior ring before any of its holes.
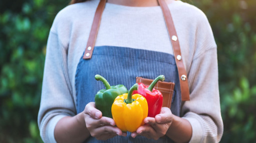
{"type": "Polygon", "coordinates": [[[96,109],[94,102],[90,102],[85,106],[84,113],[93,119],[100,119],[102,117],[101,111],[96,109]]]}

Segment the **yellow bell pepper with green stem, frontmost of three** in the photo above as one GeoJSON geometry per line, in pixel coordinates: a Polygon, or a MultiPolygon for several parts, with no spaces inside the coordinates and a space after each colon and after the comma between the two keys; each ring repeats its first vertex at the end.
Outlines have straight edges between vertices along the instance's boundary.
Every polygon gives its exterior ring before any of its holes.
{"type": "Polygon", "coordinates": [[[144,125],[144,119],[148,116],[148,104],[146,98],[140,94],[133,94],[138,89],[134,84],[128,94],[116,97],[112,105],[112,115],[116,126],[123,132],[135,132],[144,125]]]}

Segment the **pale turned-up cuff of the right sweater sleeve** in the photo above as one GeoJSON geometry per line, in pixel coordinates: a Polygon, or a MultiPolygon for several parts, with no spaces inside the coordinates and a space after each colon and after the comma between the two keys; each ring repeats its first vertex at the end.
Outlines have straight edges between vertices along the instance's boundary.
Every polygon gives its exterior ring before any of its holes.
{"type": "Polygon", "coordinates": [[[182,117],[183,119],[186,119],[190,122],[191,126],[192,126],[192,137],[189,143],[201,143],[202,139],[203,139],[203,127],[200,124],[200,121],[197,118],[201,118],[198,117],[199,115],[195,114],[195,113],[187,113],[184,117],[182,117]]]}

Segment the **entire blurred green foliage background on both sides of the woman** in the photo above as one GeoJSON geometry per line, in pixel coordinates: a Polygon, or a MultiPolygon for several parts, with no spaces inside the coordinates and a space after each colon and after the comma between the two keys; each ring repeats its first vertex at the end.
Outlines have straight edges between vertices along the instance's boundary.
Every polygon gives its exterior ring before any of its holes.
{"type": "MultiPolygon", "coordinates": [[[[183,0],[202,9],[218,45],[223,143],[256,141],[256,0],[183,0]]],[[[0,143],[41,143],[45,47],[69,0],[0,2],[0,143]]]]}

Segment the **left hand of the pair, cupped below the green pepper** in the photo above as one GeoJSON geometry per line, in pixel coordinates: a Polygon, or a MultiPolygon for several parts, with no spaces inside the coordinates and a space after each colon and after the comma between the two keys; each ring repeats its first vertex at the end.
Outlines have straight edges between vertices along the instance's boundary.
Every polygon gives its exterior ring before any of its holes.
{"type": "Polygon", "coordinates": [[[97,140],[107,140],[117,135],[126,136],[126,133],[115,127],[113,119],[102,117],[102,113],[96,109],[94,102],[90,102],[85,106],[84,119],[86,128],[91,136],[97,140]]]}

